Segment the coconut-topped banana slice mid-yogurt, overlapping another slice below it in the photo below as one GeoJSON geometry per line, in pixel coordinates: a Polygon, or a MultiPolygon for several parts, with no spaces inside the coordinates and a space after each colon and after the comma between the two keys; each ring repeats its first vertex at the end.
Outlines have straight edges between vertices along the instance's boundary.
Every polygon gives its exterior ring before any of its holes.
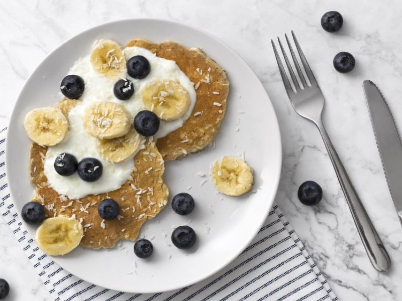
{"type": "Polygon", "coordinates": [[[91,136],[113,139],[128,133],[130,113],[114,102],[99,102],[85,108],[84,129],[91,136]]]}

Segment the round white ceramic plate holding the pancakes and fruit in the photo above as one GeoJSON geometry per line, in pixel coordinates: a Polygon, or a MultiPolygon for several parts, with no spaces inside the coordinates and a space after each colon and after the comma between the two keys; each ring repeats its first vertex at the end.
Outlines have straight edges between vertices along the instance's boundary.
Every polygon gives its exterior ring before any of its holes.
{"type": "MultiPolygon", "coordinates": [[[[53,259],[84,280],[119,291],[150,293],[190,285],[223,268],[251,242],[271,208],[281,167],[279,127],[261,82],[233,50],[203,31],[169,21],[123,20],[87,30],[54,50],[27,80],[10,120],[6,162],[13,201],[21,212],[34,193],[27,172],[31,141],[23,128],[25,114],[57,103],[61,79],[76,59],[89,54],[93,41],[102,38],[121,45],[133,38],[153,42],[169,39],[188,48],[202,48],[227,71],[227,112],[214,146],[182,161],[166,163],[169,203],[140,233],[152,239],[152,257],[137,258],[134,242],[124,241],[111,251],[78,247],[53,259]],[[210,180],[210,166],[225,155],[244,155],[254,169],[253,193],[241,197],[217,193],[210,180]],[[197,176],[198,172],[206,177],[197,176]],[[207,182],[201,186],[204,180],[207,182]],[[170,200],[179,192],[189,192],[195,199],[196,208],[190,215],[180,216],[171,209],[170,200]],[[173,228],[183,224],[197,234],[197,243],[189,251],[170,242],[173,228]]],[[[36,227],[26,226],[34,237],[36,227]]]]}

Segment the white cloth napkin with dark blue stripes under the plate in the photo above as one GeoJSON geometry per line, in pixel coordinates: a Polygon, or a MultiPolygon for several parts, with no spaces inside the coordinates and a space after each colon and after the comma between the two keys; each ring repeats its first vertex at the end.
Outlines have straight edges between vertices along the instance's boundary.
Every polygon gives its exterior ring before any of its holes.
{"type": "Polygon", "coordinates": [[[6,180],[6,132],[7,128],[0,130],[0,213],[55,300],[338,300],[277,205],[250,246],[232,263],[188,287],[133,294],[79,279],[38,248],[16,212],[6,180]]]}

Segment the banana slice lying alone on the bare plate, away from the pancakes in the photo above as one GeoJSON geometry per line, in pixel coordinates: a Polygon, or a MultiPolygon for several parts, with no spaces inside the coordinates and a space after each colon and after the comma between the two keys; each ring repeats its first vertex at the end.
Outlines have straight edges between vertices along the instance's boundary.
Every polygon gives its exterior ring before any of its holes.
{"type": "Polygon", "coordinates": [[[253,186],[253,171],[241,159],[225,156],[212,167],[212,183],[228,196],[240,196],[253,186]]]}

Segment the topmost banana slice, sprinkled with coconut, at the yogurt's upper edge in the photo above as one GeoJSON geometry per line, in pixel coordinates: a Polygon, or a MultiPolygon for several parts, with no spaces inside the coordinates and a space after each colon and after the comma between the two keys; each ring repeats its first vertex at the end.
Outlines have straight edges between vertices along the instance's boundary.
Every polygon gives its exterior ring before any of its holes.
{"type": "Polygon", "coordinates": [[[126,71],[126,59],[122,47],[112,40],[99,40],[90,54],[93,70],[99,74],[116,80],[126,71]]]}

